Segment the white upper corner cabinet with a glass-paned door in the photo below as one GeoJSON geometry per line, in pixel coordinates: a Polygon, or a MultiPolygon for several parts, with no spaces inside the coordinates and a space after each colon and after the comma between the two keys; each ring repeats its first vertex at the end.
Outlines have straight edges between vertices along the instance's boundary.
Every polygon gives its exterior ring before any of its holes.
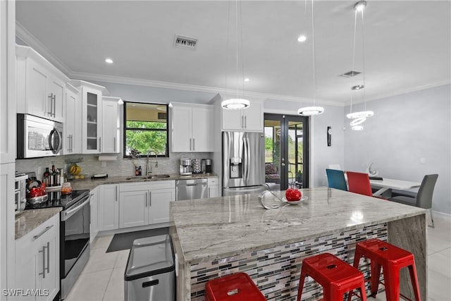
{"type": "Polygon", "coordinates": [[[104,87],[74,80],[82,99],[82,154],[100,154],[102,134],[102,92],[104,87]]]}

